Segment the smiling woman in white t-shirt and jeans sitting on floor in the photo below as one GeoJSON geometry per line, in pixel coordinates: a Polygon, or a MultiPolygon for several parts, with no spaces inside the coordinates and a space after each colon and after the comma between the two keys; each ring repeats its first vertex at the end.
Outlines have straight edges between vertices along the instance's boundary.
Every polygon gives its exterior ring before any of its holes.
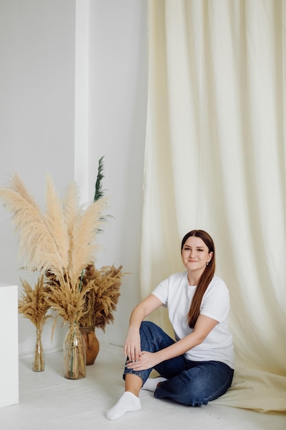
{"type": "Polygon", "coordinates": [[[229,296],[215,275],[215,247],[206,231],[192,230],[182,239],[187,271],[161,282],[130,317],[124,351],[126,389],[106,418],[139,411],[140,389],[156,398],[200,406],[222,396],[233,381],[233,341],[228,331],[229,296]],[[176,341],[156,324],[143,321],[159,306],[168,308],[176,341]],[[155,369],[159,378],[148,378],[155,369]]]}

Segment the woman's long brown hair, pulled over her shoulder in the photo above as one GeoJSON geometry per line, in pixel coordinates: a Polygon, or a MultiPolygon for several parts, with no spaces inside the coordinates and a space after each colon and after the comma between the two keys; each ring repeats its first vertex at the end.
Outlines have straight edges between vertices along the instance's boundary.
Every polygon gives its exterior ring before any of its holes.
{"type": "Polygon", "coordinates": [[[215,245],[213,243],[213,239],[211,236],[206,233],[204,230],[192,230],[187,233],[184,238],[182,238],[181,252],[184,247],[185,242],[191,237],[195,236],[197,238],[201,238],[202,241],[208,247],[208,252],[213,252],[213,258],[204,269],[202,276],[198,282],[198,286],[195,289],[195,294],[193,296],[193,300],[191,302],[191,307],[189,308],[189,313],[187,315],[189,327],[194,328],[195,323],[200,315],[200,306],[202,304],[202,296],[204,295],[208,284],[213,279],[213,275],[215,274],[215,245]]]}

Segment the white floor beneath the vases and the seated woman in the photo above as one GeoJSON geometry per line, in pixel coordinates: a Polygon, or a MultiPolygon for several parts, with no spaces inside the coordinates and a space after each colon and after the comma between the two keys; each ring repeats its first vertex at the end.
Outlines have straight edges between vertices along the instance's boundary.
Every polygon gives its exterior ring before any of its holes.
{"type": "Polygon", "coordinates": [[[19,404],[0,408],[1,430],[286,429],[285,414],[260,414],[212,403],[184,407],[157,400],[143,390],[141,411],[108,421],[106,409],[123,393],[121,348],[102,345],[95,364],[86,367],[86,378],[78,381],[64,378],[62,352],[46,354],[44,372],[32,372],[31,361],[31,357],[20,360],[19,404]]]}

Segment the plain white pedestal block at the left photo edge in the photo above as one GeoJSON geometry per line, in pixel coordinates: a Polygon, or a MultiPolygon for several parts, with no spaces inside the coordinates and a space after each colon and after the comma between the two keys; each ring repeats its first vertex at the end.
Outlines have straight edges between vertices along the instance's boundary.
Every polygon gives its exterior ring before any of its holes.
{"type": "Polygon", "coordinates": [[[0,407],[19,403],[18,286],[0,282],[0,407]]]}

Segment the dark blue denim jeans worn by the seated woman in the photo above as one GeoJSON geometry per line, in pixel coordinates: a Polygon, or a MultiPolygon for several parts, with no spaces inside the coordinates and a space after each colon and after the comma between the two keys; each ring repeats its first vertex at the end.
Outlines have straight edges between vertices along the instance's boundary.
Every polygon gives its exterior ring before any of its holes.
{"type": "MultiPolygon", "coordinates": [[[[141,350],[156,352],[174,343],[160,327],[143,321],[140,328],[141,350]]],[[[183,355],[159,363],[154,369],[167,379],[156,388],[156,398],[168,398],[182,405],[201,406],[222,396],[233,381],[233,369],[219,361],[190,361],[183,355]]],[[[126,374],[140,376],[143,384],[152,369],[136,372],[125,367],[126,374]]]]}

